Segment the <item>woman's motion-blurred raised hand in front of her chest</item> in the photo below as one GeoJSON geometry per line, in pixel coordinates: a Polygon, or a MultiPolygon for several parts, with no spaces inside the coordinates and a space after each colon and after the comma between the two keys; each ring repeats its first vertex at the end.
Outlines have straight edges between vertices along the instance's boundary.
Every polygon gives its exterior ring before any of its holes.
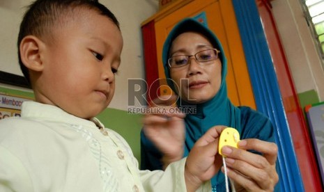
{"type": "Polygon", "coordinates": [[[162,152],[164,168],[169,163],[183,158],[185,143],[185,121],[183,118],[185,118],[185,114],[175,112],[177,98],[176,95],[157,97],[151,103],[151,113],[146,114],[143,120],[144,134],[162,152]]]}

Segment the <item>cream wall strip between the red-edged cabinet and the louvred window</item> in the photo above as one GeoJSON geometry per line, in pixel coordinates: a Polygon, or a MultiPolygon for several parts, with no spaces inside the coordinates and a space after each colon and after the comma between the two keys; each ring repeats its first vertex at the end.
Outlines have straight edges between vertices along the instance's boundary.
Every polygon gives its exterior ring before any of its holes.
{"type": "Polygon", "coordinates": [[[297,92],[316,90],[319,99],[324,101],[323,64],[300,1],[273,0],[271,4],[297,92]]]}

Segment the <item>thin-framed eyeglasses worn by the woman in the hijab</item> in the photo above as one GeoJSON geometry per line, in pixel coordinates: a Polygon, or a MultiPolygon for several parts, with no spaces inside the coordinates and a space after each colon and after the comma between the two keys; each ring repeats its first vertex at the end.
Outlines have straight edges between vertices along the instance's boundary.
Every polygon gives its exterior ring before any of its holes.
{"type": "Polygon", "coordinates": [[[219,52],[220,51],[218,51],[217,49],[206,49],[203,51],[199,51],[191,56],[171,56],[168,59],[168,64],[171,68],[183,67],[189,64],[189,58],[192,56],[194,56],[194,58],[196,58],[196,61],[198,61],[199,63],[206,63],[208,61],[216,60],[218,58],[219,52]]]}

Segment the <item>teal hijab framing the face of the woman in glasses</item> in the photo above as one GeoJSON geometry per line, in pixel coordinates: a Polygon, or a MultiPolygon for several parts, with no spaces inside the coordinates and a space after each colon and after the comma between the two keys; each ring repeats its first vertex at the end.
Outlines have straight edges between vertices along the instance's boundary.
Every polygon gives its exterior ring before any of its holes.
{"type": "MultiPolygon", "coordinates": [[[[233,106],[229,97],[227,97],[226,88],[226,73],[227,61],[224,55],[224,50],[215,34],[206,26],[197,22],[195,19],[187,18],[179,22],[169,33],[167,40],[164,42],[162,60],[164,65],[164,72],[167,79],[171,79],[169,73],[169,65],[167,64],[169,58],[169,51],[173,40],[181,33],[193,31],[204,35],[213,45],[214,48],[220,51],[219,58],[222,61],[222,82],[217,94],[208,102],[196,104],[196,114],[187,114],[185,118],[185,126],[187,131],[185,156],[194,146],[194,143],[206,133],[210,127],[215,125],[225,125],[227,127],[235,127],[240,130],[240,109],[233,106]]],[[[169,86],[175,90],[173,82],[167,81],[169,86]]],[[[178,100],[178,106],[185,104],[183,100],[178,100]]]]}

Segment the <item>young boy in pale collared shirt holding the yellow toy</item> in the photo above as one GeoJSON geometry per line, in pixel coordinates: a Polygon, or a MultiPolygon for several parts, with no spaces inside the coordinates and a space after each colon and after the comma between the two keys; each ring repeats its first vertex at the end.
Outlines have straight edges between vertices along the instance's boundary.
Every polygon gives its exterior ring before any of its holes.
{"type": "Polygon", "coordinates": [[[210,191],[219,130],[151,172],[94,118],[114,95],[122,47],[116,17],[98,1],[29,6],[18,48],[36,102],[22,105],[21,118],[0,121],[0,191],[210,191]]]}

